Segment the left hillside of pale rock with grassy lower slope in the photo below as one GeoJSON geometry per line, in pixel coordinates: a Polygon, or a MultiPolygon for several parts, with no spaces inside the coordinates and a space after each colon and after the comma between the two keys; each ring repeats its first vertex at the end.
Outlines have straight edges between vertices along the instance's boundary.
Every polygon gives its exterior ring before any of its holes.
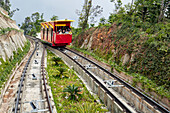
{"type": "Polygon", "coordinates": [[[6,11],[0,8],[0,101],[2,101],[5,83],[22,58],[28,53],[29,41],[26,40],[16,22],[6,11]]]}

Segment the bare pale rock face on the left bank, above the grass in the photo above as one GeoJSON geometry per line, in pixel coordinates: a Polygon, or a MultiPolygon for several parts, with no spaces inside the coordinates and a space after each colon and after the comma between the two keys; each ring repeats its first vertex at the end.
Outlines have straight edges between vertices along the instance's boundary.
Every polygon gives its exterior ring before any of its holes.
{"type": "MultiPolygon", "coordinates": [[[[19,30],[16,22],[8,18],[7,13],[0,8],[0,28],[14,28],[19,30]]],[[[0,58],[4,61],[13,56],[13,51],[24,46],[26,38],[22,32],[16,30],[8,31],[6,34],[0,34],[0,58]]],[[[0,63],[1,64],[1,63],[0,63]]]]}

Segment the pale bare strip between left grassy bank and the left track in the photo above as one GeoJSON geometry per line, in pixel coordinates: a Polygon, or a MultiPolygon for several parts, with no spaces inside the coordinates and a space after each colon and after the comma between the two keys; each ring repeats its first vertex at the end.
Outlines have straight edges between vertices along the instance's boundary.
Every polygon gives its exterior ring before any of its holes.
{"type": "Polygon", "coordinates": [[[5,83],[5,88],[3,91],[1,90],[1,105],[0,105],[0,113],[11,113],[13,109],[13,104],[15,102],[15,94],[17,92],[19,80],[22,74],[22,70],[24,69],[24,66],[26,64],[26,60],[31,55],[34,44],[33,40],[31,42],[31,47],[27,55],[23,58],[20,64],[16,64],[15,70],[13,70],[13,73],[9,77],[8,81],[5,83]]]}

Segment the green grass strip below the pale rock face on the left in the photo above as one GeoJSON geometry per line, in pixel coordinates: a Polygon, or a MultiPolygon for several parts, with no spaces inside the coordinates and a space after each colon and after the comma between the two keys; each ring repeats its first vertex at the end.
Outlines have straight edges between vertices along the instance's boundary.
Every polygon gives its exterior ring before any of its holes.
{"type": "Polygon", "coordinates": [[[2,58],[0,58],[0,62],[2,63],[0,65],[0,87],[4,85],[4,83],[8,80],[9,75],[12,73],[12,69],[15,68],[16,64],[20,63],[23,56],[28,53],[30,49],[30,42],[27,41],[25,46],[22,48],[23,51],[18,48],[17,52],[13,52],[13,57],[10,59],[6,59],[6,62],[2,58]]]}

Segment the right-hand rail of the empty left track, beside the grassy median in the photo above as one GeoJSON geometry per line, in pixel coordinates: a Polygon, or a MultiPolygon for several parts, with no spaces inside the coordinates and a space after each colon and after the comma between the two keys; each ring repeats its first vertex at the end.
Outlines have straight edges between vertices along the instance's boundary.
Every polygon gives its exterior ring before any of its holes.
{"type": "Polygon", "coordinates": [[[43,76],[43,82],[44,82],[43,84],[44,84],[44,90],[45,90],[45,94],[46,94],[46,98],[47,98],[49,111],[50,111],[50,113],[53,113],[52,105],[50,102],[50,97],[49,97],[48,90],[47,90],[47,83],[45,80],[44,54],[45,54],[45,48],[43,47],[43,55],[42,55],[42,59],[41,59],[41,69],[42,69],[42,76],[43,76]]]}

